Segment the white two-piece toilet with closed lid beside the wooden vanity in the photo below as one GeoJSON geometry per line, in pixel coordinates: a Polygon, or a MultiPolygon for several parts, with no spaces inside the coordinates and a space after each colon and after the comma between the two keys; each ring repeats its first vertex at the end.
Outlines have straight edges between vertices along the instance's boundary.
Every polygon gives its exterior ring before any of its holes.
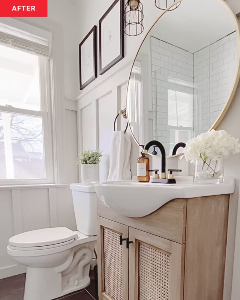
{"type": "Polygon", "coordinates": [[[24,300],[51,300],[89,285],[96,243],[97,195],[93,186],[71,184],[78,231],[66,227],[20,233],[7,253],[27,266],[24,300]]]}

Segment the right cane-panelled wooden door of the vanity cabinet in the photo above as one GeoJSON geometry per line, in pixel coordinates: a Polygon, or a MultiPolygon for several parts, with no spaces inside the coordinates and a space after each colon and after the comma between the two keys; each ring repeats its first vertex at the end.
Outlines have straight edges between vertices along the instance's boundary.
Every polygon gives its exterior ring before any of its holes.
{"type": "Polygon", "coordinates": [[[129,227],[129,299],[182,300],[184,245],[129,227]]]}

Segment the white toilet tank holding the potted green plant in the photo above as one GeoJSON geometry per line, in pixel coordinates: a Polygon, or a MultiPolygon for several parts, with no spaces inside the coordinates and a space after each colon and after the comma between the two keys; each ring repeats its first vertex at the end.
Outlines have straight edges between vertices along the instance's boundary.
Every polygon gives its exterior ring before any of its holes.
{"type": "Polygon", "coordinates": [[[97,194],[91,185],[73,183],[73,195],[77,230],[85,235],[97,235],[97,194]]]}

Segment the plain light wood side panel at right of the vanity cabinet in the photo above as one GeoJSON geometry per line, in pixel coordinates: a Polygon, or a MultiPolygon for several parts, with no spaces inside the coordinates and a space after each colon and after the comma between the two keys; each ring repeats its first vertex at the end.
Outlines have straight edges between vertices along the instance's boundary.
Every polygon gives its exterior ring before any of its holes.
{"type": "Polygon", "coordinates": [[[222,300],[229,195],[187,200],[184,300],[222,300]]]}

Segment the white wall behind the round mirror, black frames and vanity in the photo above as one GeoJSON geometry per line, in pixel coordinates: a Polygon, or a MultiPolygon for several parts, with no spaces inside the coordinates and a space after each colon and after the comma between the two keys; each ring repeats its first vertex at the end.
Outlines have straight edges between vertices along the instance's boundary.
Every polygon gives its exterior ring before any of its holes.
{"type": "MultiPolygon", "coordinates": [[[[92,1],[77,1],[78,6],[78,28],[76,46],[94,26],[98,25],[98,20],[112,4],[112,0],[92,0],[92,1]]],[[[238,0],[228,0],[230,5],[234,6],[235,13],[240,11],[240,4],[238,0]],[[239,8],[239,11],[237,11],[239,8]]],[[[154,1],[143,0],[144,5],[144,26],[145,34],[150,26],[153,24],[157,16],[160,16],[161,11],[156,9],[154,1]]],[[[103,76],[92,82],[81,93],[78,93],[78,128],[79,128],[79,149],[85,147],[98,147],[100,140],[99,137],[103,134],[109,135],[113,131],[113,111],[117,113],[117,109],[124,103],[123,93],[121,92],[128,80],[128,76],[133,63],[133,58],[137,53],[137,50],[144,38],[144,34],[138,37],[125,37],[125,58],[107,71],[103,76]],[[120,97],[120,99],[119,99],[120,97]],[[100,110],[99,110],[100,105],[100,110]],[[88,107],[88,108],[87,108],[88,107]],[[105,108],[105,109],[103,109],[105,108]],[[103,123],[99,122],[99,119],[106,118],[103,123]],[[84,120],[84,122],[82,122],[84,120]]],[[[230,134],[240,138],[240,123],[239,123],[239,111],[240,111],[240,88],[235,96],[235,99],[223,119],[219,128],[224,128],[230,134]]],[[[121,128],[122,127],[121,123],[121,128]]],[[[133,174],[136,174],[136,160],[139,155],[138,149],[134,146],[131,153],[131,168],[133,174]]],[[[110,147],[110,139],[105,140],[102,146],[105,149],[110,147]]],[[[226,176],[232,176],[236,179],[236,191],[231,197],[229,208],[229,233],[228,233],[228,246],[227,246],[227,258],[226,258],[226,276],[225,276],[225,288],[224,288],[224,300],[239,300],[240,287],[240,218],[237,223],[237,235],[236,235],[236,218],[238,208],[238,186],[240,179],[239,172],[240,155],[234,155],[226,161],[225,173],[226,176]],[[237,166],[237,167],[236,167],[237,166]],[[236,237],[236,246],[235,246],[236,237]],[[234,258],[234,246],[235,246],[235,258],[234,258]],[[234,271],[232,280],[232,269],[234,261],[234,271]],[[233,282],[232,282],[233,281],[233,282]],[[232,291],[232,298],[231,298],[232,291]]],[[[159,164],[159,161],[155,161],[155,164],[159,164]]],[[[154,165],[156,167],[156,165],[154,165]]],[[[106,172],[106,170],[104,171],[106,172]]],[[[240,216],[240,207],[239,214],[240,216]]]]}

